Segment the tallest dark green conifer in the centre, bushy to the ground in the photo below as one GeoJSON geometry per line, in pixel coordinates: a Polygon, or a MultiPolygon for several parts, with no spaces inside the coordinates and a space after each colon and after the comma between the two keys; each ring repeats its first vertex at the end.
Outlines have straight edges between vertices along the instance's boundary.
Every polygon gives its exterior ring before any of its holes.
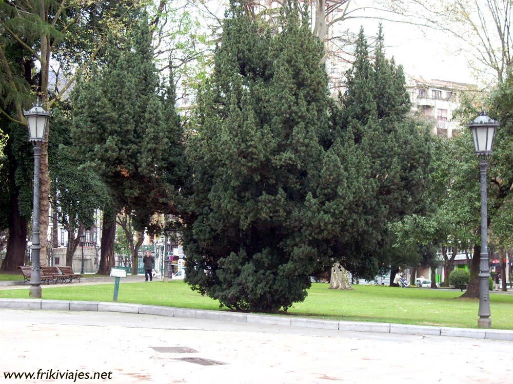
{"type": "Polygon", "coordinates": [[[321,254],[327,79],[322,45],[298,13],[288,4],[272,34],[232,4],[189,143],[187,279],[229,308],[302,301],[321,254]]]}

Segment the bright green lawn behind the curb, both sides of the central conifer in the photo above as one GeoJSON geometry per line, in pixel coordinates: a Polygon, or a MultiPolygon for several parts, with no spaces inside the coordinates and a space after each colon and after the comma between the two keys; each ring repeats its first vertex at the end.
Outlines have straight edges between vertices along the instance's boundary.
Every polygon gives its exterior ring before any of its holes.
{"type": "MultiPolygon", "coordinates": [[[[45,289],[43,298],[54,300],[112,301],[114,284],[66,285],[45,289]]],[[[303,303],[288,315],[447,327],[477,327],[478,300],[460,299],[458,290],[431,290],[354,286],[353,291],[328,289],[315,283],[303,303]]],[[[27,289],[0,290],[0,297],[28,298],[27,289]]],[[[491,293],[492,326],[513,329],[513,295],[491,293]]],[[[130,283],[120,286],[118,301],[183,308],[219,310],[219,302],[192,292],[181,281],[130,283]]],[[[226,308],[224,308],[226,309],[226,308]]]]}

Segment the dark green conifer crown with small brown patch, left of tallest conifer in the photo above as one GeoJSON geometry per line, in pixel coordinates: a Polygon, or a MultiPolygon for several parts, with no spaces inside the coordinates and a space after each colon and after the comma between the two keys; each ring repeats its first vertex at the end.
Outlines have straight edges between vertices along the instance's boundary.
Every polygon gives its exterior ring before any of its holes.
{"type": "Polygon", "coordinates": [[[74,142],[137,230],[174,212],[181,185],[182,129],[173,81],[161,91],[146,15],[125,49],[111,39],[106,65],[75,93],[74,142]]]}

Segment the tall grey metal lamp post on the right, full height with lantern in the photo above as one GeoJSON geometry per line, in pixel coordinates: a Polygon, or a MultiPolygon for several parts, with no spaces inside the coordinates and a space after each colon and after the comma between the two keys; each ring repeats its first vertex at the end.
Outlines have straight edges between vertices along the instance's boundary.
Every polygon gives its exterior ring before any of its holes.
{"type": "MultiPolygon", "coordinates": [[[[481,169],[481,254],[479,259],[479,319],[478,327],[491,328],[490,312],[490,261],[488,259],[488,209],[486,191],[486,169],[488,156],[494,146],[495,132],[499,122],[484,112],[468,123],[472,131],[476,155],[479,156],[481,169]]],[[[477,257],[477,255],[474,255],[477,257]]]]}

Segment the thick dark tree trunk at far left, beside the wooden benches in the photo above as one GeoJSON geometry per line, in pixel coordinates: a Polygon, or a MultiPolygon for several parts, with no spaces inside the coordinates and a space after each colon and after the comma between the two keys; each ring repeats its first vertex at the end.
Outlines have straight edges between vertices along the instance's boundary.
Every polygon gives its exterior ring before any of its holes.
{"type": "Polygon", "coordinates": [[[11,194],[9,210],[9,238],[7,240],[7,254],[2,264],[2,270],[13,271],[18,265],[25,262],[27,249],[27,220],[19,214],[19,193],[11,194]]]}

